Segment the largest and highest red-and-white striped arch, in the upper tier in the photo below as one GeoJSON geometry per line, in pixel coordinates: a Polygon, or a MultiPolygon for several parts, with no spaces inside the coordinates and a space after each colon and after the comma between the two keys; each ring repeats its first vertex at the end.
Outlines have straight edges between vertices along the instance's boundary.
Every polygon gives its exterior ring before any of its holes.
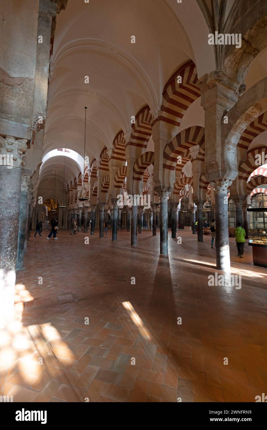
{"type": "Polygon", "coordinates": [[[170,77],[163,89],[161,115],[156,121],[164,121],[179,127],[188,107],[200,97],[196,66],[193,61],[185,61],[170,77]],[[181,76],[182,83],[177,82],[181,76]]]}

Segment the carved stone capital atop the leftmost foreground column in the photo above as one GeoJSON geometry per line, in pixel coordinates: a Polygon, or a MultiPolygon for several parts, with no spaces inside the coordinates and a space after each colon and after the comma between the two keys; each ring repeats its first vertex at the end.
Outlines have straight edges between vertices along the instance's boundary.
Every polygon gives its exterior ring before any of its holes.
{"type": "Polygon", "coordinates": [[[1,165],[18,167],[24,166],[23,157],[26,156],[27,139],[15,139],[13,136],[0,136],[1,165]]]}

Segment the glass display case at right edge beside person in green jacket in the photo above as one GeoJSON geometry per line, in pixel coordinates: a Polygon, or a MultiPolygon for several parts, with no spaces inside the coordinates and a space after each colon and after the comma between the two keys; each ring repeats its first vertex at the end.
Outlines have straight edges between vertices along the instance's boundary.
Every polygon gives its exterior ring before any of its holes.
{"type": "Polygon", "coordinates": [[[249,246],[255,266],[267,267],[267,207],[249,208],[249,246]]]}

